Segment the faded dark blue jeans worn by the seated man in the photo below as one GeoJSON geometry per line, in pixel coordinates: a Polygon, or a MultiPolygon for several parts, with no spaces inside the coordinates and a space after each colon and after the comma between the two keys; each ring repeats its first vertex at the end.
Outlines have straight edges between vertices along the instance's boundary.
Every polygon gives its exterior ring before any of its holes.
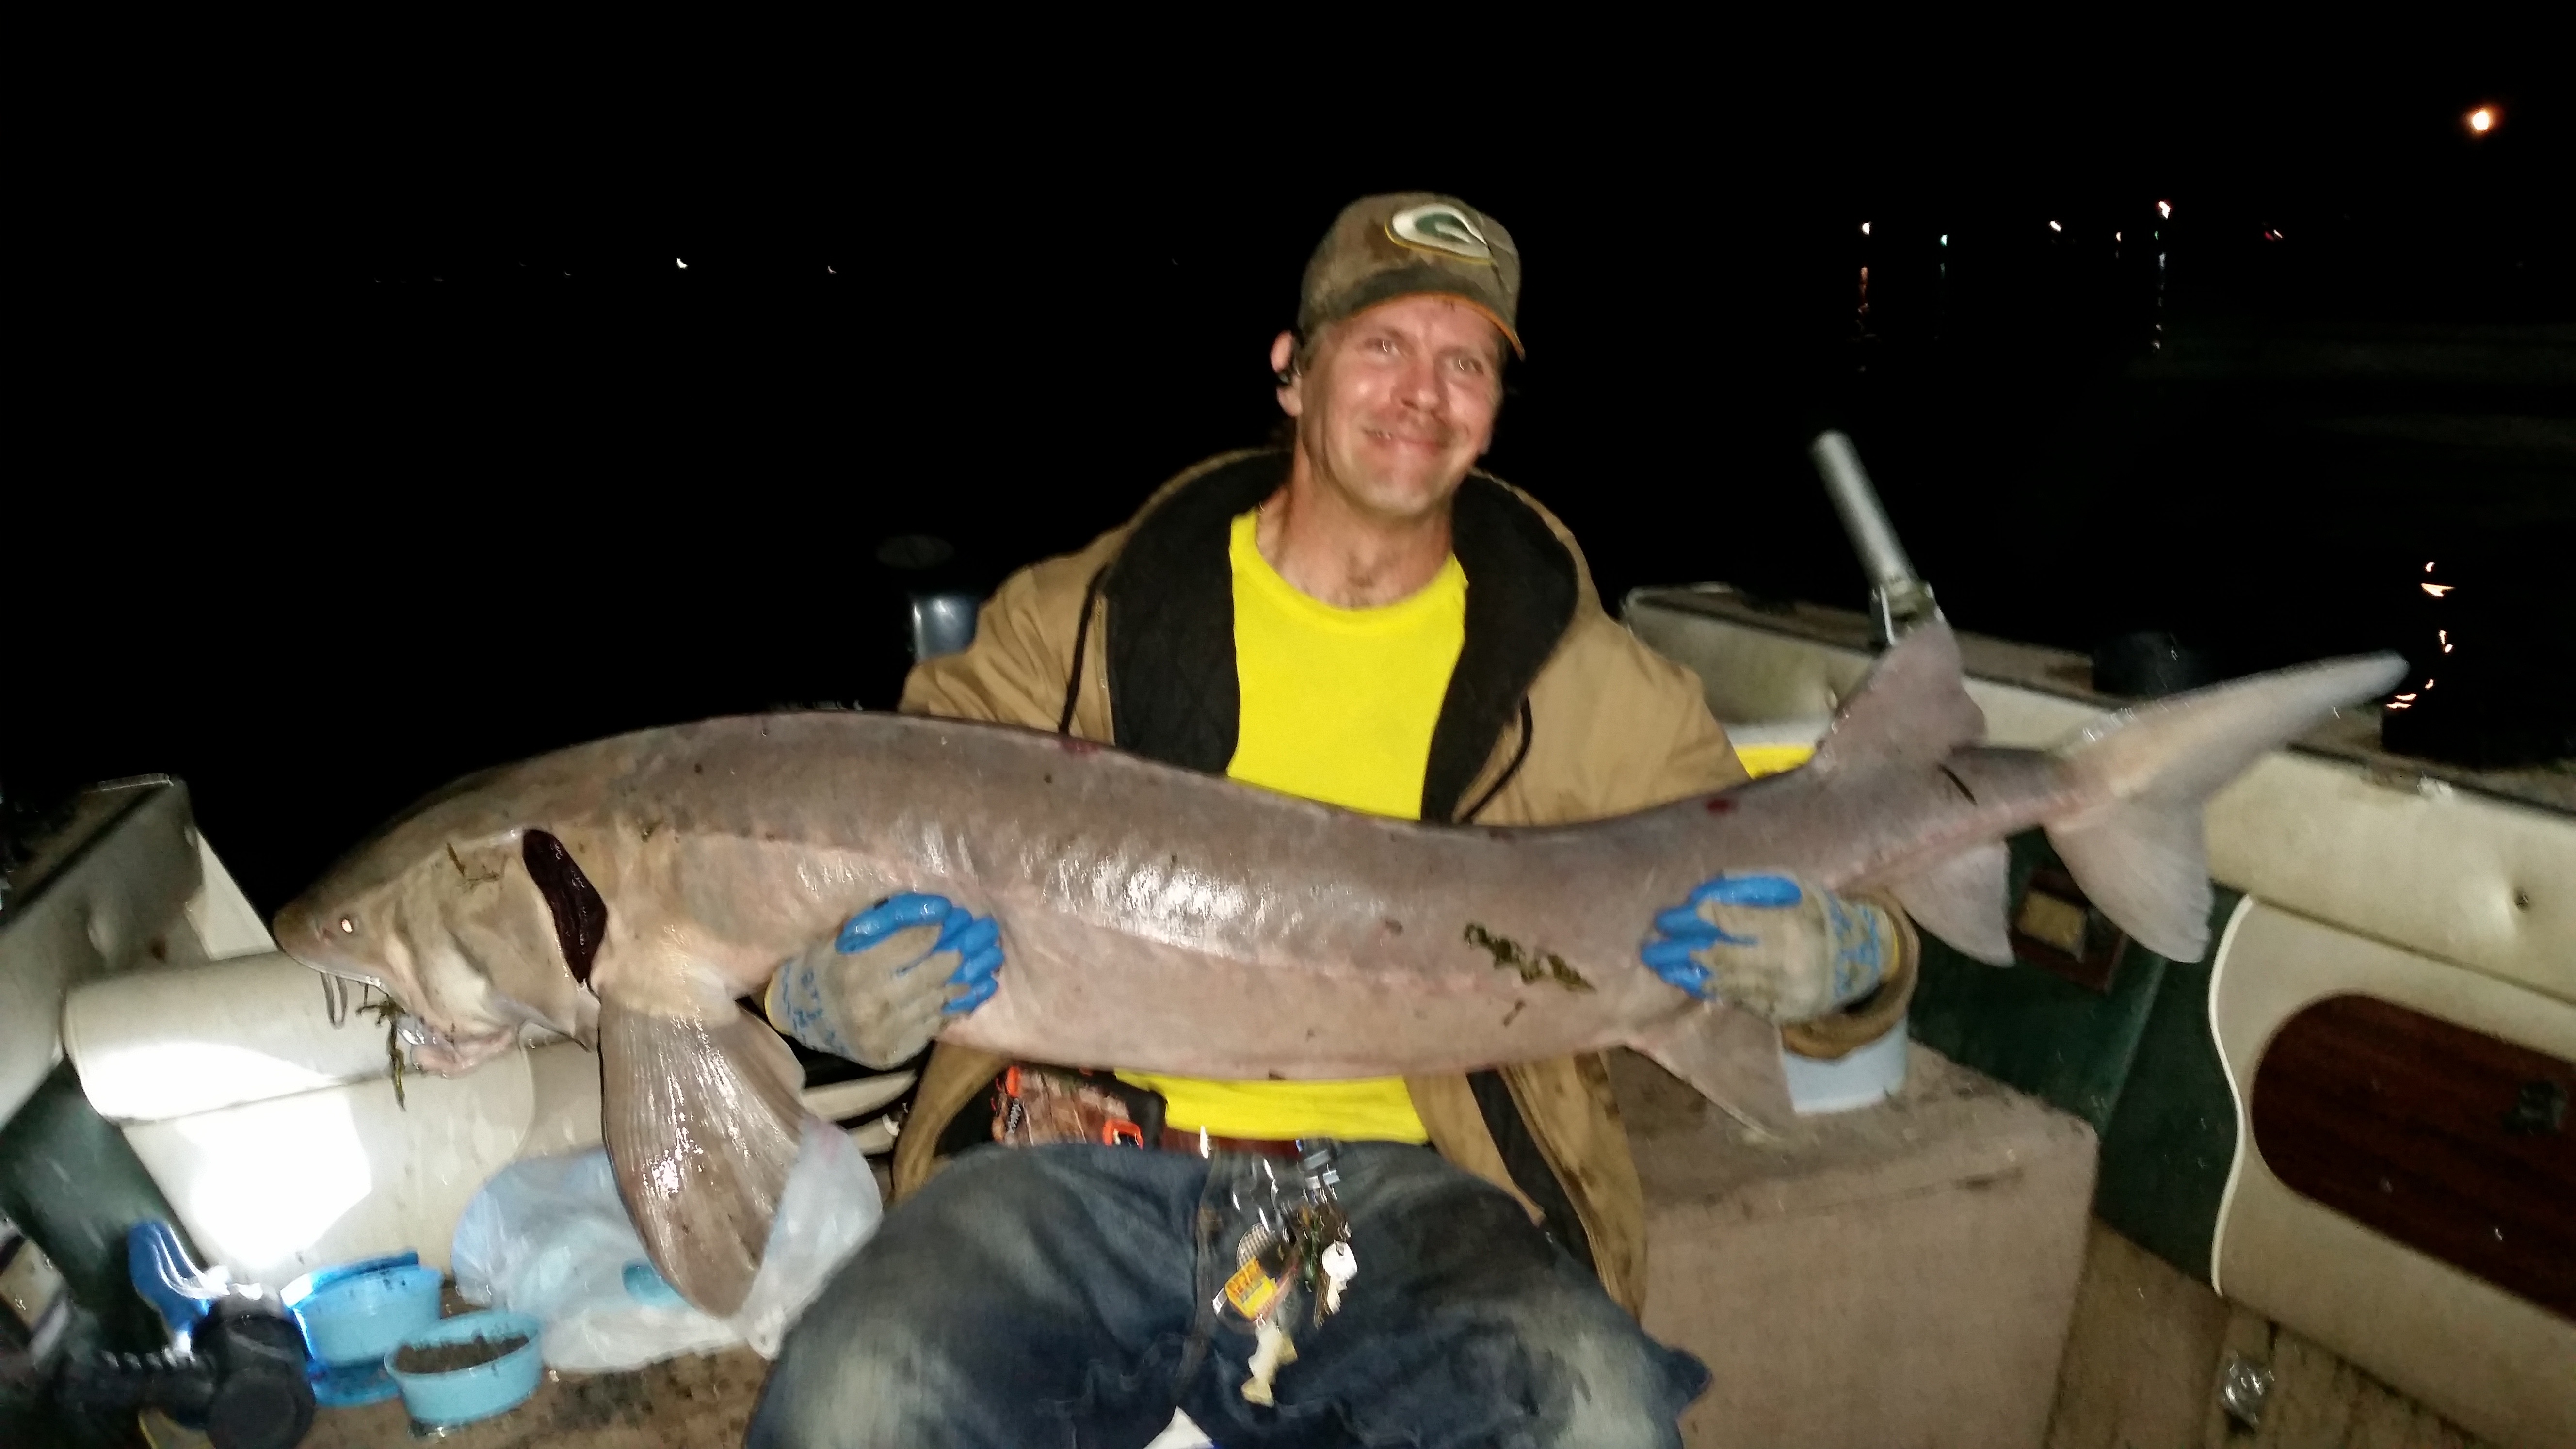
{"type": "Polygon", "coordinates": [[[1213,1305],[1262,1171],[1126,1147],[976,1147],[788,1330],[752,1449],[1139,1449],[1175,1408],[1221,1449],[1674,1449],[1708,1385],[1520,1204],[1427,1147],[1342,1147],[1358,1276],[1278,1408],[1242,1397],[1252,1330],[1213,1305]]]}

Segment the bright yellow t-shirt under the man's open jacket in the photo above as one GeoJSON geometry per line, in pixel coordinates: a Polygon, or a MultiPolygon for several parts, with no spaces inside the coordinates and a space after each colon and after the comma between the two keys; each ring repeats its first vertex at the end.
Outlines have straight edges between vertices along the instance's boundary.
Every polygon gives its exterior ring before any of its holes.
{"type": "MultiPolygon", "coordinates": [[[[1298,593],[1234,521],[1234,676],[1242,730],[1226,776],[1399,820],[1422,817],[1422,771],[1466,645],[1458,559],[1409,598],[1334,608],[1298,593]]],[[[1218,1137],[1422,1142],[1404,1078],[1229,1083],[1118,1073],[1170,1098],[1167,1122],[1218,1137]]]]}

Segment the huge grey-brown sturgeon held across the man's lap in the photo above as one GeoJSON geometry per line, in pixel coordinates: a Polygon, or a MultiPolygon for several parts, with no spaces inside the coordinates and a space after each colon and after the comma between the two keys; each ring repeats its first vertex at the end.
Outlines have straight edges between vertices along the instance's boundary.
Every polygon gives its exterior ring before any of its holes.
{"type": "Polygon", "coordinates": [[[1703,879],[1886,890],[2007,962],[2002,841],[2045,825],[2117,926],[2197,959],[2200,804],[2401,668],[2282,670],[2002,750],[1935,624],[1878,660],[1811,766],[1533,830],[1355,815],[997,724],[708,719],[464,779],[276,936],[417,1013],[433,1070],[526,1026],[595,1042],[618,1191],[662,1274],[729,1312],[799,1142],[793,1062],[737,998],[891,892],[999,918],[1002,990],[945,1039],[1010,1057],[1363,1078],[1631,1044],[1726,1101],[1765,1078],[1752,1018],[1638,964],[1656,910],[1703,879]]]}

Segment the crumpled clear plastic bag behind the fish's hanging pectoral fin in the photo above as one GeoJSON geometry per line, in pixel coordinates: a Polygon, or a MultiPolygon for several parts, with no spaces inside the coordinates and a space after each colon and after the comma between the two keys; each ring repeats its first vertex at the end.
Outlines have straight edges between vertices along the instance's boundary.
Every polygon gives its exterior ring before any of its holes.
{"type": "Polygon", "coordinates": [[[760,1274],[732,1318],[698,1312],[652,1271],[603,1150],[495,1173],[456,1222],[451,1266],[464,1297],[536,1315],[554,1369],[634,1369],[729,1343],[773,1359],[804,1305],[881,1220],[858,1145],[809,1116],[760,1274]]]}

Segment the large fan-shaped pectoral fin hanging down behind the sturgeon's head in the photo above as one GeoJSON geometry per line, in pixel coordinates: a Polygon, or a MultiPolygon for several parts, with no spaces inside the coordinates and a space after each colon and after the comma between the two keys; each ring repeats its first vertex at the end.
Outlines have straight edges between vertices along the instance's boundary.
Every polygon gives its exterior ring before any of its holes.
{"type": "Polygon", "coordinates": [[[793,1052],[739,1008],[657,1016],[600,1000],[600,1129],[644,1250],[726,1318],[752,1289],[801,1147],[793,1052]]]}

